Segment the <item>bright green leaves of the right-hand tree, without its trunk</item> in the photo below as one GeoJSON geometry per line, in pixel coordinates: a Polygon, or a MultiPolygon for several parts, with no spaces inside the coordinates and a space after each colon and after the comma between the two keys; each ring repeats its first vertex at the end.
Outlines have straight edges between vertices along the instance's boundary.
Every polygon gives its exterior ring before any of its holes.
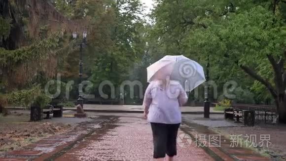
{"type": "MultiPolygon", "coordinates": [[[[266,88],[240,69],[247,65],[274,84],[266,55],[283,56],[286,45],[285,5],[276,12],[270,0],[156,0],[154,25],[148,32],[153,57],[183,54],[203,66],[210,56],[210,76],[216,84],[235,80],[239,86],[269,98],[266,88]],[[255,88],[255,89],[254,89],[255,88]],[[267,93],[267,94],[266,94],[267,93]]],[[[219,86],[219,93],[222,87],[219,86]]],[[[237,102],[253,103],[249,91],[237,89],[237,102]]],[[[223,95],[221,95],[223,96],[223,95]]],[[[223,98],[220,98],[223,99],[223,98]]]]}

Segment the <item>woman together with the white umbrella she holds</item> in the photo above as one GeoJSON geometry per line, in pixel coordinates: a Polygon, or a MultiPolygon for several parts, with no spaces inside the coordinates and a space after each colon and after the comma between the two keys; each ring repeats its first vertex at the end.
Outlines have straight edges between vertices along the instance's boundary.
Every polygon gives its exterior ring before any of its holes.
{"type": "Polygon", "coordinates": [[[185,91],[206,81],[204,69],[183,55],[166,55],[147,67],[147,81],[150,84],[145,91],[143,107],[144,118],[150,122],[153,132],[153,158],[164,161],[166,157],[166,161],[174,161],[181,123],[179,107],[187,102],[185,91]]]}

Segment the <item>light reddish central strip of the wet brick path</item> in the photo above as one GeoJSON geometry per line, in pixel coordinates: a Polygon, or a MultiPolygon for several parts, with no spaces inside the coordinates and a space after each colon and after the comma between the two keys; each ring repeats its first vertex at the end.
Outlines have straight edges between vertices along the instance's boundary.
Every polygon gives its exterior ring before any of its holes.
{"type": "MultiPolygon", "coordinates": [[[[59,156],[55,161],[152,161],[150,125],[139,118],[121,117],[106,129],[59,156]]],[[[179,131],[179,134],[183,133],[179,131]]],[[[176,161],[214,161],[203,149],[178,146],[176,161]]]]}

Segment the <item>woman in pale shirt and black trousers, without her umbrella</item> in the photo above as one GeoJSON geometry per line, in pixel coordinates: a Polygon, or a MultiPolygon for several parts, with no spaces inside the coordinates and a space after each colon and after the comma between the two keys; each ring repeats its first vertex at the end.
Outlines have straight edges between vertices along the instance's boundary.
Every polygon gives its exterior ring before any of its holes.
{"type": "MultiPolygon", "coordinates": [[[[164,74],[162,75],[164,76],[164,74]]],[[[174,161],[177,155],[177,134],[181,123],[180,106],[187,95],[178,81],[170,77],[150,81],[144,100],[144,118],[151,124],[155,161],[174,161]],[[167,156],[166,156],[167,154],[167,156]]]]}

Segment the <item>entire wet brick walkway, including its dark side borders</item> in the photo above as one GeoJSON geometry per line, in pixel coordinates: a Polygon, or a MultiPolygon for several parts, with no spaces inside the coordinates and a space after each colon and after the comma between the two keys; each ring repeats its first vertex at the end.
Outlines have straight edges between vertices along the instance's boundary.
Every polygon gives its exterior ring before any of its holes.
{"type": "MultiPolygon", "coordinates": [[[[72,131],[11,151],[0,156],[0,161],[152,161],[152,131],[142,115],[108,115],[92,117],[72,131]]],[[[195,118],[199,117],[183,116],[175,161],[270,161],[250,149],[230,148],[223,136],[219,147],[208,146],[210,142],[204,138],[196,140],[199,134],[216,134],[202,123],[222,120],[195,118]],[[207,146],[198,145],[200,142],[207,146]]]]}

